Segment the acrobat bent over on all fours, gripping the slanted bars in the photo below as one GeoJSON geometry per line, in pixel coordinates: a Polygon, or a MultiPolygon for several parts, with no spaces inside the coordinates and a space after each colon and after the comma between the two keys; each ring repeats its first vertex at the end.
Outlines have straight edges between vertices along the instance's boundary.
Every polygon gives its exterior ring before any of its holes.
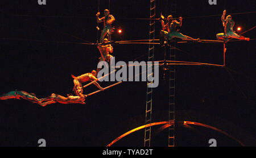
{"type": "Polygon", "coordinates": [[[73,88],[73,92],[75,92],[75,94],[77,96],[80,97],[84,97],[84,94],[82,94],[82,83],[87,82],[87,81],[92,81],[94,85],[97,86],[97,88],[99,88],[100,90],[104,90],[104,88],[102,88],[98,83],[98,78],[96,78],[96,70],[92,70],[92,73],[85,73],[82,74],[78,77],[73,76],[73,74],[71,75],[74,80],[74,88],[73,88]]]}

